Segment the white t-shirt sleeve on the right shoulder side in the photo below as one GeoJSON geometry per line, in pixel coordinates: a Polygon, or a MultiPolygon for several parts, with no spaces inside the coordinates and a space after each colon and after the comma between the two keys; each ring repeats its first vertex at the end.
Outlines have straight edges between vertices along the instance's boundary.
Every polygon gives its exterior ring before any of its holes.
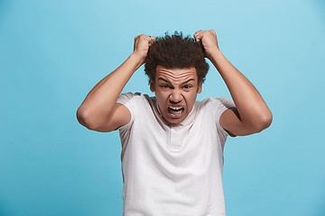
{"type": "Polygon", "coordinates": [[[228,134],[227,130],[224,130],[220,126],[219,120],[220,120],[221,114],[223,112],[225,112],[226,110],[228,110],[231,107],[236,107],[236,105],[233,101],[231,101],[230,99],[228,99],[226,97],[212,97],[211,100],[213,101],[213,111],[214,111],[214,115],[215,115],[215,121],[217,124],[218,134],[221,139],[226,140],[226,138],[229,134],[228,134]]]}

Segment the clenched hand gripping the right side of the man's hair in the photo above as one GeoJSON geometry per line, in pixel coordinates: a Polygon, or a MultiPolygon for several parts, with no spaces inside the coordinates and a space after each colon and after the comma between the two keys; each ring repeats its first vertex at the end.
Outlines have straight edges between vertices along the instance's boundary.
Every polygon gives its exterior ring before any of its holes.
{"type": "Polygon", "coordinates": [[[211,58],[212,54],[218,49],[217,34],[214,30],[209,31],[196,31],[194,39],[197,42],[201,42],[205,51],[206,58],[211,58]]]}

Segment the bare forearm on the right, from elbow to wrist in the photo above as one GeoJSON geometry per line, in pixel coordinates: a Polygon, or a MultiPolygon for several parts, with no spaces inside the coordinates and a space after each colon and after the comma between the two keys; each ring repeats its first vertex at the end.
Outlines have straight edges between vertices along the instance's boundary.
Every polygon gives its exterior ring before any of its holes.
{"type": "Polygon", "coordinates": [[[228,86],[241,121],[251,126],[268,127],[272,112],[255,86],[219,50],[214,51],[209,59],[228,86]]]}

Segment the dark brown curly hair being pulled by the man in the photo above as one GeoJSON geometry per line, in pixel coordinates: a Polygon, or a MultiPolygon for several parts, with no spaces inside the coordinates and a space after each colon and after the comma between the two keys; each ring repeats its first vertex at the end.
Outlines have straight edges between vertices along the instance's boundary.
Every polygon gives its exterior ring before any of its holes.
{"type": "Polygon", "coordinates": [[[165,68],[195,67],[199,82],[204,82],[209,70],[202,44],[196,42],[194,38],[190,38],[190,35],[183,37],[182,32],[178,31],[175,31],[173,35],[165,32],[164,37],[157,37],[149,47],[144,63],[145,74],[153,81],[157,66],[165,68]]]}

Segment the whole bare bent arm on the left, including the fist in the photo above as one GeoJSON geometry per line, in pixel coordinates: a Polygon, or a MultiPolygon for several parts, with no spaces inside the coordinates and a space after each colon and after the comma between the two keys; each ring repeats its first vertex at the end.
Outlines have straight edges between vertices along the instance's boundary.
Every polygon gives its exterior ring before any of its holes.
{"type": "Polygon", "coordinates": [[[89,130],[111,131],[131,120],[128,109],[116,103],[128,80],[144,64],[150,44],[155,40],[144,34],[135,37],[135,50],[112,73],[95,85],[79,106],[77,118],[89,130]]]}

